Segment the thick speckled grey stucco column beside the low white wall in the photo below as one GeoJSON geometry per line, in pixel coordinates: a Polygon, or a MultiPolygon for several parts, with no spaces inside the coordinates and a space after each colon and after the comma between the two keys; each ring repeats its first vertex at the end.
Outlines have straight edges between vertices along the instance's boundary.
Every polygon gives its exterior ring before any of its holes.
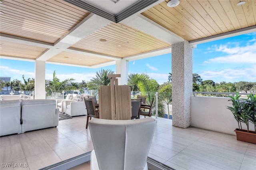
{"type": "Polygon", "coordinates": [[[188,41],[172,44],[172,125],[187,128],[191,123],[193,47],[188,41]]]}

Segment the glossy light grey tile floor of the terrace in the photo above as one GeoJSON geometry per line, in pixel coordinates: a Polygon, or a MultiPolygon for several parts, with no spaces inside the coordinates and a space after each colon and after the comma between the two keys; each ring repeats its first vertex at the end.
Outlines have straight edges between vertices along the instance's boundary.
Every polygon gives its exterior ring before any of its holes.
{"type": "MultiPolygon", "coordinates": [[[[93,149],[86,116],[59,121],[46,128],[0,137],[0,169],[37,170],[93,149]],[[28,167],[6,168],[2,163],[28,167]],[[25,164],[26,163],[26,164],[25,164]]],[[[149,157],[177,170],[255,170],[256,144],[240,142],[236,136],[199,128],[172,127],[158,118],[149,157]]],[[[90,169],[86,162],[72,170],[90,169]]]]}

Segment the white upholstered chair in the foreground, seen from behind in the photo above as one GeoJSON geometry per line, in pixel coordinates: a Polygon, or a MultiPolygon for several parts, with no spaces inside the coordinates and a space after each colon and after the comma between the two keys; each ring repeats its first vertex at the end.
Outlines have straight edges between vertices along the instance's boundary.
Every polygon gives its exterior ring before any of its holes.
{"type": "Polygon", "coordinates": [[[92,119],[89,127],[94,146],[91,170],[148,170],[155,119],[92,119]]]}

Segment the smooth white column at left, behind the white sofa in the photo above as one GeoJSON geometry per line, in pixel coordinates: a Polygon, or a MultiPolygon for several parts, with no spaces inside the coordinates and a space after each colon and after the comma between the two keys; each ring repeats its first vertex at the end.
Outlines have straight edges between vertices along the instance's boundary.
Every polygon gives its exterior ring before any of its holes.
{"type": "Polygon", "coordinates": [[[35,62],[35,99],[45,99],[45,61],[35,62]]]}

